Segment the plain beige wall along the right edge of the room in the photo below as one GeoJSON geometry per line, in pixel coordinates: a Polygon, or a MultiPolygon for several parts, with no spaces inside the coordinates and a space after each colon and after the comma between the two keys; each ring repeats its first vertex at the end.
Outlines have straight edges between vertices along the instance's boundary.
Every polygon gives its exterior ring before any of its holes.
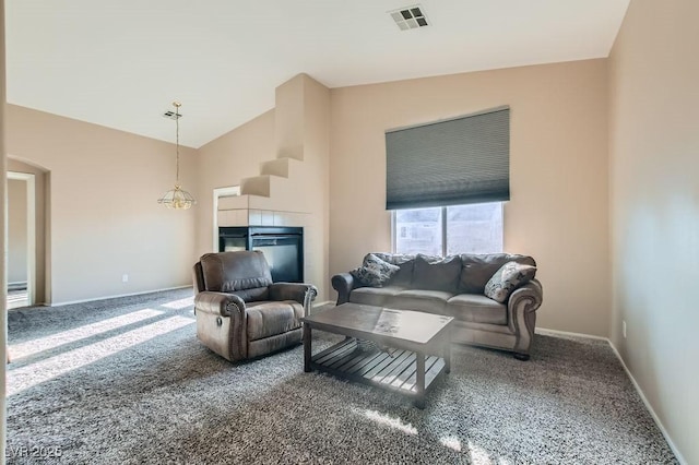
{"type": "Polygon", "coordinates": [[[635,0],[609,60],[611,337],[691,464],[699,463],[698,17],[696,0],[635,0]]]}

